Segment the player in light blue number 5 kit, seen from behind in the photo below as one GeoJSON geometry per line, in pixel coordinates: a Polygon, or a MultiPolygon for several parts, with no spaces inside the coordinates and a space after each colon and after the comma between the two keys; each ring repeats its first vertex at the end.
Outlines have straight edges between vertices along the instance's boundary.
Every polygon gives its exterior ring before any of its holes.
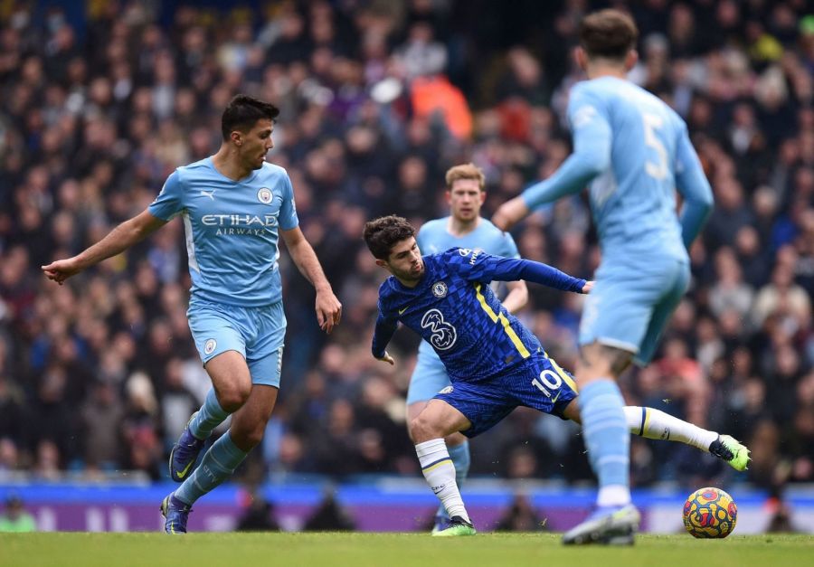
{"type": "MultiPolygon", "coordinates": [[[[573,154],[545,181],[504,203],[492,218],[508,230],[542,203],[590,184],[601,245],[596,286],[585,302],[576,367],[585,444],[599,478],[597,508],[563,543],[607,543],[639,524],[630,502],[629,437],[616,380],[648,364],[690,278],[687,249],[713,196],[686,124],[626,80],[639,31],[617,10],[589,14],[575,57],[588,80],[568,104],[573,154]],[[676,189],[683,198],[677,214],[676,189]]],[[[730,449],[734,439],[727,439],[730,449]]]]}

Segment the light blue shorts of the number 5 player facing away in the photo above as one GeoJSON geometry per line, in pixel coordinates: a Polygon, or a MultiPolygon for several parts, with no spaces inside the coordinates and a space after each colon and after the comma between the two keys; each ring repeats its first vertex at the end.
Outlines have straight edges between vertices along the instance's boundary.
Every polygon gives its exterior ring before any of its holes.
{"type": "Polygon", "coordinates": [[[689,279],[686,260],[603,260],[582,308],[580,345],[614,346],[648,364],[689,279]]]}

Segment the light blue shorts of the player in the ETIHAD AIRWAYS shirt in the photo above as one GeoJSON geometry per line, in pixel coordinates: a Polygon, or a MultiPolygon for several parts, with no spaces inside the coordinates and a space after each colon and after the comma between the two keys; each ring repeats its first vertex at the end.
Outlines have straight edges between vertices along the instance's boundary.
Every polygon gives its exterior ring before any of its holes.
{"type": "Polygon", "coordinates": [[[218,354],[237,351],[249,365],[251,383],[279,388],[286,335],[282,301],[239,307],[193,299],[186,316],[204,365],[218,354]]]}

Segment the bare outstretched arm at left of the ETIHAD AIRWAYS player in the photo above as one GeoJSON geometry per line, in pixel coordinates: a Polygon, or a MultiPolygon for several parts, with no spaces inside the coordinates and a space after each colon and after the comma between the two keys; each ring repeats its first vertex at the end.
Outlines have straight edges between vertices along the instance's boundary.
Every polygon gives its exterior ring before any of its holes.
{"type": "Polygon", "coordinates": [[[90,248],[65,260],[56,260],[43,266],[48,279],[53,279],[62,286],[62,282],[81,270],[107,260],[111,256],[127,250],[133,244],[143,241],[147,236],[164,226],[166,221],[153,216],[149,211],[139,213],[132,219],[122,222],[115,229],[90,248]]]}

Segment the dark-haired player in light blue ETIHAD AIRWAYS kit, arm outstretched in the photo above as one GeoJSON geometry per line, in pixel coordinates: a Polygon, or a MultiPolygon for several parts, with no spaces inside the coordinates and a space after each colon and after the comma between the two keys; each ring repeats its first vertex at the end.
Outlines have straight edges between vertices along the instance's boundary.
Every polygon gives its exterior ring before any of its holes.
{"type": "Polygon", "coordinates": [[[299,230],[289,175],[265,161],[278,114],[271,104],[237,95],[223,111],[223,139],[214,156],[178,167],[146,211],[89,249],[43,266],[62,285],[175,216],[183,218],[192,277],[187,316],[213,389],[170,456],[170,475],[183,484],[161,504],[169,534],[185,533],[194,501],[231,477],[260,443],[277,401],[286,329],[280,236],[317,290],[319,326],[330,333],[341,317],[342,306],[299,230]],[[230,414],[232,426],[194,468],[204,440],[230,414]]]}

